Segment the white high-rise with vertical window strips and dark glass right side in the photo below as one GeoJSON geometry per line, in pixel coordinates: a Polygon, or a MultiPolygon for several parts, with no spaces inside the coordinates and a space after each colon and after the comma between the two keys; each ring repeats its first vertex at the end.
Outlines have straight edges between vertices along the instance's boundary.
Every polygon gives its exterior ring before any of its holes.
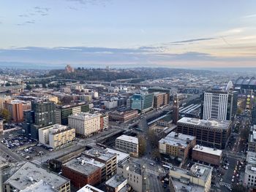
{"type": "Polygon", "coordinates": [[[237,101],[237,91],[206,91],[203,94],[203,119],[233,120],[236,115],[237,101]]]}

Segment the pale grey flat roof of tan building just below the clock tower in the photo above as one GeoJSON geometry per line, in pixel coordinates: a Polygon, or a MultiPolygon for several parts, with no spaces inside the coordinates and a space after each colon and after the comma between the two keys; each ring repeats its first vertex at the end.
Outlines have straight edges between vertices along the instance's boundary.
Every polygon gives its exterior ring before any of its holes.
{"type": "Polygon", "coordinates": [[[165,138],[160,139],[159,143],[172,145],[172,146],[187,147],[187,145],[188,145],[187,141],[190,142],[194,139],[195,139],[194,136],[170,132],[170,134],[167,134],[167,136],[165,138]]]}

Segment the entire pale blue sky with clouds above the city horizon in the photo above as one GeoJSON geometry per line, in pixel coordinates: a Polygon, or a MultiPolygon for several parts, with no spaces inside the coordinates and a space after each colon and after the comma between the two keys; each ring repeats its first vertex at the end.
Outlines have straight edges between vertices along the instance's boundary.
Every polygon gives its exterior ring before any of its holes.
{"type": "Polygon", "coordinates": [[[1,0],[0,64],[255,67],[256,1],[1,0]]]}

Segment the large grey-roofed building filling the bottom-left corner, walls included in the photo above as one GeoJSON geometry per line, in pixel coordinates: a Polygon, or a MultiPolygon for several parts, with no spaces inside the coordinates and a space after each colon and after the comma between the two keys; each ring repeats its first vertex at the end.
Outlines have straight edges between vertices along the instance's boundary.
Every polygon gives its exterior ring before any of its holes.
{"type": "MultiPolygon", "coordinates": [[[[31,187],[34,188],[33,185],[38,185],[40,182],[41,184],[47,184],[47,188],[50,187],[57,192],[70,192],[70,181],[67,178],[42,169],[31,161],[26,162],[4,182],[4,192],[23,191],[31,187]]],[[[36,188],[33,191],[37,191],[36,188]]]]}

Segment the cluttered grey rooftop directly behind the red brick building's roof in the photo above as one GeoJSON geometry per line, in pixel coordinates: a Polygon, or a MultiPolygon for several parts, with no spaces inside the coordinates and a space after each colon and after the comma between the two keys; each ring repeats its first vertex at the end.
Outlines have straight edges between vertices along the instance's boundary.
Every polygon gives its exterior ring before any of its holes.
{"type": "Polygon", "coordinates": [[[108,150],[94,148],[85,150],[82,154],[101,159],[102,161],[109,161],[111,158],[117,156],[116,153],[111,153],[108,150]]]}

